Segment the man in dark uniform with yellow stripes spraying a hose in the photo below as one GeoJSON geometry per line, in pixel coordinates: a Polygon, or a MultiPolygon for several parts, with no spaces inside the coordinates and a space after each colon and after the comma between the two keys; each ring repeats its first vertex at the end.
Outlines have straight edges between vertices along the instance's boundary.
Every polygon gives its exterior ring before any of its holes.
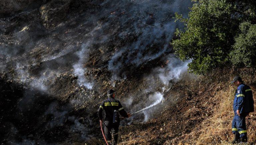
{"type": "Polygon", "coordinates": [[[109,89],[107,91],[108,99],[102,101],[99,109],[98,116],[100,118],[100,122],[102,122],[102,111],[105,110],[105,119],[104,119],[104,132],[107,142],[112,145],[117,145],[118,138],[118,128],[120,119],[118,116],[118,112],[123,117],[130,117],[130,113],[126,113],[121,103],[115,99],[115,90],[109,89]],[[115,116],[115,118],[113,118],[115,116]],[[113,135],[113,141],[111,139],[111,135],[113,135]]]}

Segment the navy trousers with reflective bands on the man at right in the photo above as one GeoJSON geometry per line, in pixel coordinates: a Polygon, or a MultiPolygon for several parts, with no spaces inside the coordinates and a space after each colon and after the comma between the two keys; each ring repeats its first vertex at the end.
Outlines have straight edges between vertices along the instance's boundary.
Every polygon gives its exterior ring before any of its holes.
{"type": "Polygon", "coordinates": [[[235,116],[232,120],[232,133],[235,135],[239,135],[240,137],[246,137],[247,136],[247,130],[246,130],[246,123],[245,123],[245,117],[248,115],[248,113],[242,113],[240,116],[238,116],[235,113],[235,116]]]}

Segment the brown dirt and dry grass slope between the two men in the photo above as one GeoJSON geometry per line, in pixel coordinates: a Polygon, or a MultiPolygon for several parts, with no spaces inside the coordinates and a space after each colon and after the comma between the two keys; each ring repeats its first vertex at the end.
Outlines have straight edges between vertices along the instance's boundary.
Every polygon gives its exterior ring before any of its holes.
{"type": "MultiPolygon", "coordinates": [[[[120,144],[229,144],[236,89],[229,82],[236,74],[244,76],[254,90],[254,69],[219,69],[201,79],[184,78],[171,89],[176,93],[168,94],[178,98],[176,103],[168,101],[172,105],[146,123],[121,127],[120,144]]],[[[255,112],[250,113],[246,122],[249,144],[256,143],[255,120],[255,112]]]]}

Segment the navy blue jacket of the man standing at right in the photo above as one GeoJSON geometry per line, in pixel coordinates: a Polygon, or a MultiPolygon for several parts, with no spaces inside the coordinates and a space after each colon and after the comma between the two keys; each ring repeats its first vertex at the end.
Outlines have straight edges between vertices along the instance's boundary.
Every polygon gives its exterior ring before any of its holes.
{"type": "Polygon", "coordinates": [[[248,85],[241,83],[237,87],[233,103],[233,109],[235,114],[236,110],[240,110],[240,114],[254,111],[252,90],[248,85]]]}

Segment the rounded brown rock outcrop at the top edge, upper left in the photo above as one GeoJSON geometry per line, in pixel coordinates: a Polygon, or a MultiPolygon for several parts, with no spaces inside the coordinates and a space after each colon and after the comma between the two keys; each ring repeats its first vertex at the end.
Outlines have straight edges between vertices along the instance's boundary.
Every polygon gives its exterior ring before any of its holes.
{"type": "Polygon", "coordinates": [[[39,9],[46,29],[53,29],[66,19],[71,0],[53,0],[39,9]]]}

